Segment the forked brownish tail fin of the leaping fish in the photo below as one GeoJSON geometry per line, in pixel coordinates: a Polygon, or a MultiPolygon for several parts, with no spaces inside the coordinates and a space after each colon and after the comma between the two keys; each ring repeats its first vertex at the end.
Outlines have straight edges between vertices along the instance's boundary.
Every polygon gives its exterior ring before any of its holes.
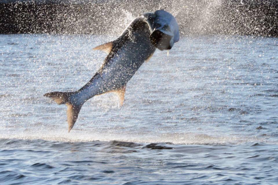
{"type": "Polygon", "coordinates": [[[59,105],[67,105],[67,124],[69,126],[68,132],[74,126],[74,123],[76,122],[76,119],[78,117],[78,113],[80,112],[80,109],[83,105],[77,105],[75,103],[72,103],[70,97],[73,94],[74,92],[49,92],[44,95],[45,97],[53,99],[59,105]]]}

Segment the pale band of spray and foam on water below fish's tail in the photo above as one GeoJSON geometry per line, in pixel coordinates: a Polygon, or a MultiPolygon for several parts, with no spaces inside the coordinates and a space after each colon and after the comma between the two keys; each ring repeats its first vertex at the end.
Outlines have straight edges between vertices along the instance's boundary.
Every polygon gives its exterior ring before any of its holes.
{"type": "MultiPolygon", "coordinates": [[[[17,134],[0,134],[0,139],[23,139],[23,140],[48,140],[60,142],[92,142],[103,141],[110,142],[116,140],[118,142],[131,143],[172,143],[178,145],[223,145],[223,144],[240,144],[240,143],[270,143],[277,144],[277,140],[267,140],[268,135],[262,137],[257,136],[215,136],[209,134],[198,133],[155,133],[155,134],[134,134],[134,133],[117,133],[107,132],[84,132],[74,130],[71,133],[51,131],[51,132],[24,132],[17,134]]],[[[150,146],[155,147],[155,146],[150,146]]]]}

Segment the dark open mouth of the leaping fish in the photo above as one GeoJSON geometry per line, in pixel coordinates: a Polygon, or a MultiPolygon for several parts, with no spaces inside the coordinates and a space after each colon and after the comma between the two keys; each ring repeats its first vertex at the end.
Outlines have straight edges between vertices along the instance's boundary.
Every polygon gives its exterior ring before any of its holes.
{"type": "Polygon", "coordinates": [[[172,38],[171,34],[159,29],[154,30],[150,35],[151,43],[159,50],[171,49],[172,38]]]}

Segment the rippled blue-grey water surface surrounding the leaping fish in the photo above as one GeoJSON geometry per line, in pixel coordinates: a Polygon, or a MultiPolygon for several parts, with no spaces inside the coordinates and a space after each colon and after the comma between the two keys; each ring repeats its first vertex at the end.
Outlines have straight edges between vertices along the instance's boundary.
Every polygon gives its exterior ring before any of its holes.
{"type": "Polygon", "coordinates": [[[0,35],[0,184],[278,184],[278,38],[182,37],[129,81],[66,106],[113,40],[0,35]]]}

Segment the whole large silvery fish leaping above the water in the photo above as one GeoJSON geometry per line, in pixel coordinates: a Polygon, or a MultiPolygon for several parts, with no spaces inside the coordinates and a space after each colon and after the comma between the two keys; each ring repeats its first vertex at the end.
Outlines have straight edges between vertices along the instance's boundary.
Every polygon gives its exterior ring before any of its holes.
{"type": "Polygon", "coordinates": [[[82,105],[90,98],[115,92],[122,106],[127,82],[148,61],[156,48],[169,50],[180,38],[178,23],[173,15],[157,10],[134,19],[114,41],[95,47],[108,55],[92,79],[75,92],[49,92],[44,96],[67,105],[68,132],[74,126],[82,105]]]}

